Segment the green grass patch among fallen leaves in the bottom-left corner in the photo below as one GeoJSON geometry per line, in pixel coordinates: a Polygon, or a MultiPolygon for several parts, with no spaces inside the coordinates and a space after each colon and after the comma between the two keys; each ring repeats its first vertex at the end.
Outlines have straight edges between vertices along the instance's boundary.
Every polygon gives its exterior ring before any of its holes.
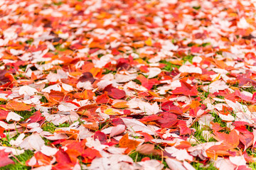
{"type": "Polygon", "coordinates": [[[33,151],[26,150],[23,154],[16,156],[19,162],[14,158],[11,159],[15,162],[15,164],[9,164],[7,166],[1,167],[0,170],[21,170],[21,169],[31,169],[30,166],[26,166],[26,161],[33,157],[33,151]]]}

